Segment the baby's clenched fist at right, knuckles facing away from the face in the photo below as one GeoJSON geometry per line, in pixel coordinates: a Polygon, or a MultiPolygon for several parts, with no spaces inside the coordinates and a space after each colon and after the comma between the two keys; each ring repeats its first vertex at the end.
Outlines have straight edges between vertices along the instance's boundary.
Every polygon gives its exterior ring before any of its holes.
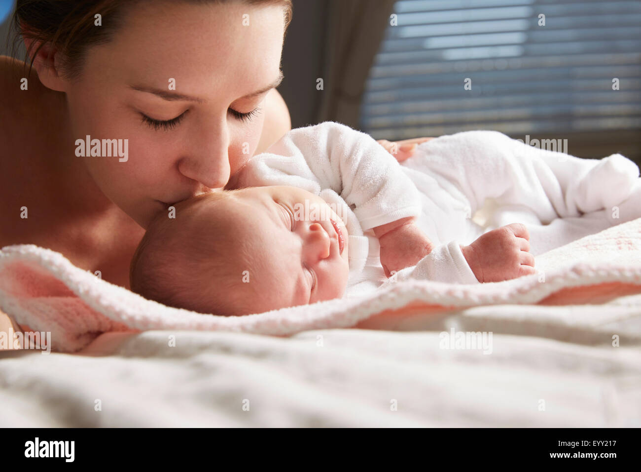
{"type": "Polygon", "coordinates": [[[521,223],[488,231],[461,250],[479,282],[501,282],[535,272],[528,229],[521,223]]]}

